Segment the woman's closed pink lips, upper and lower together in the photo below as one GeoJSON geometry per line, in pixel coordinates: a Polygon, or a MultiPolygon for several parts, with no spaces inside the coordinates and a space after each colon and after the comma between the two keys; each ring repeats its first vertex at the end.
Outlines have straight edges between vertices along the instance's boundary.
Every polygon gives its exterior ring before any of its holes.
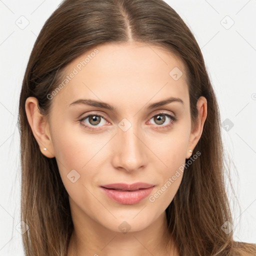
{"type": "Polygon", "coordinates": [[[100,188],[113,201],[121,204],[135,204],[147,197],[154,185],[137,182],[133,184],[114,183],[102,185],[100,188]]]}

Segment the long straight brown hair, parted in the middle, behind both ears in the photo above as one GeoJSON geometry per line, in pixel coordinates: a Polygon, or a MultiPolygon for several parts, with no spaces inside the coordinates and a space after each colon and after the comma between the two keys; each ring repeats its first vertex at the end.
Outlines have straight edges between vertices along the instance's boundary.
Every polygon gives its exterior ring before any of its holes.
{"type": "MultiPolygon", "coordinates": [[[[43,25],[29,57],[19,99],[21,220],[26,256],[64,256],[73,230],[68,194],[56,159],[45,157],[32,134],[25,100],[38,99],[50,113],[47,97],[62,80],[66,65],[98,44],[127,41],[162,47],[186,68],[192,124],[196,101],[207,99],[207,118],[194,148],[201,155],[183,173],[166,208],[168,232],[182,256],[255,255],[256,246],[233,241],[221,226],[232,218],[224,187],[219,109],[200,48],[180,16],[162,0],[64,0],[43,25]],[[253,253],[253,254],[252,254],[253,253]]],[[[189,159],[186,159],[186,163],[189,159]]]]}

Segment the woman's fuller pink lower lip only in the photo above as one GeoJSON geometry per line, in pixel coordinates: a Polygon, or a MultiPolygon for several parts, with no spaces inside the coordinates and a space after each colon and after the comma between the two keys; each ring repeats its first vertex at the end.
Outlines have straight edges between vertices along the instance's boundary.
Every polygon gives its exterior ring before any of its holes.
{"type": "Polygon", "coordinates": [[[115,202],[121,204],[134,204],[140,202],[142,199],[147,197],[154,187],[152,186],[134,191],[120,191],[104,187],[100,188],[103,189],[106,195],[115,202]]]}

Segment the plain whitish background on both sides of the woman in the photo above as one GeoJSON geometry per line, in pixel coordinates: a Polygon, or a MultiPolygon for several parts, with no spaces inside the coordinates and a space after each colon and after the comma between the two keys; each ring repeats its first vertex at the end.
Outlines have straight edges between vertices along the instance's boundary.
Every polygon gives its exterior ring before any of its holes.
{"type": "MultiPolygon", "coordinates": [[[[233,161],[230,172],[241,206],[239,211],[230,197],[235,240],[255,243],[256,0],[166,2],[195,35],[217,95],[221,121],[228,118],[222,137],[233,161]]],[[[36,36],[59,3],[0,0],[0,256],[23,255],[21,234],[16,230],[20,221],[18,97],[36,36]]]]}

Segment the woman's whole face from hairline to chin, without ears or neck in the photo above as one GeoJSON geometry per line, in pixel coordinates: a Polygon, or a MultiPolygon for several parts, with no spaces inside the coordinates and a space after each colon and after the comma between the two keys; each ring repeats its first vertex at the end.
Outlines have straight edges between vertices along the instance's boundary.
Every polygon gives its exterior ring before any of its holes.
{"type": "Polygon", "coordinates": [[[173,199],[193,149],[184,66],[152,45],[104,44],[69,63],[66,75],[49,95],[48,124],[71,211],[112,231],[142,230],[173,199]],[[101,187],[136,182],[149,185],[101,187]]]}

